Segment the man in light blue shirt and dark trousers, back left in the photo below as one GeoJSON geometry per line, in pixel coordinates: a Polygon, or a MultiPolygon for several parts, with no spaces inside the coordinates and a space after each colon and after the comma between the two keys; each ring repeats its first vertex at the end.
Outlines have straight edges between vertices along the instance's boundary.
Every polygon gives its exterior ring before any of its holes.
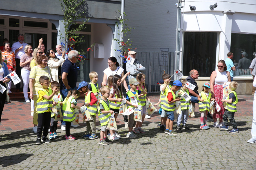
{"type": "MultiPolygon", "coordinates": [[[[20,57],[23,54],[25,54],[24,48],[25,48],[26,45],[28,45],[27,43],[24,43],[23,41],[24,41],[24,35],[23,34],[18,34],[18,41],[16,43],[13,43],[13,45],[12,45],[12,51],[15,54],[16,73],[17,73],[19,78],[20,78],[21,69],[22,69],[19,66],[20,57]]],[[[20,88],[20,83],[16,84],[16,92],[19,92],[19,88],[20,88]]]]}

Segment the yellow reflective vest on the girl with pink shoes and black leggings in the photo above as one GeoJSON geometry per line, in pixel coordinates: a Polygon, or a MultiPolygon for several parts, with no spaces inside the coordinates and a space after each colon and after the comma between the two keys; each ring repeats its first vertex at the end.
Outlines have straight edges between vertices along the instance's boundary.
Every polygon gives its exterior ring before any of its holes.
{"type": "Polygon", "coordinates": [[[71,122],[75,119],[74,108],[71,107],[71,100],[74,99],[73,96],[66,98],[63,101],[62,110],[63,110],[63,121],[71,122]]]}

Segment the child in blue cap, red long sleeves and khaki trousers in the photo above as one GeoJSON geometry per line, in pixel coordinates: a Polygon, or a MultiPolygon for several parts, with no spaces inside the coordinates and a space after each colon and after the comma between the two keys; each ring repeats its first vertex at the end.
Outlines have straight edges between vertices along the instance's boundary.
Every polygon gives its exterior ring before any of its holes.
{"type": "Polygon", "coordinates": [[[83,138],[96,139],[98,138],[96,135],[96,114],[97,114],[97,98],[94,93],[88,88],[87,82],[79,83],[77,88],[86,93],[84,104],[88,108],[91,119],[90,121],[86,121],[87,134],[83,135],[83,138]]]}

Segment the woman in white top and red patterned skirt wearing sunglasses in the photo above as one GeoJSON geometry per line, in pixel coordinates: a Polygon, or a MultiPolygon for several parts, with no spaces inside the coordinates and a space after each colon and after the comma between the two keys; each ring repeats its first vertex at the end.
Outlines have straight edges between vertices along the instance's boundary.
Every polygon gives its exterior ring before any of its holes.
{"type": "Polygon", "coordinates": [[[213,71],[210,78],[211,83],[211,93],[212,97],[215,99],[214,106],[215,106],[215,113],[212,115],[214,120],[214,127],[223,126],[223,114],[225,112],[223,103],[221,100],[223,99],[223,85],[225,82],[231,82],[230,73],[227,70],[227,66],[224,60],[218,61],[217,65],[218,69],[213,71]],[[217,112],[216,110],[216,103],[221,107],[221,110],[217,112]],[[219,123],[217,123],[217,118],[219,118],[219,123]]]}

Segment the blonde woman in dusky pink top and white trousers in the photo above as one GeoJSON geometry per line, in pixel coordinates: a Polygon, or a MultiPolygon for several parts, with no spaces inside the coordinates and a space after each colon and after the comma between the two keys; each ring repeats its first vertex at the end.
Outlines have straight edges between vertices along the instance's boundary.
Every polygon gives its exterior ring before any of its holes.
{"type": "Polygon", "coordinates": [[[29,73],[30,73],[30,62],[32,60],[33,48],[30,45],[25,46],[25,54],[20,58],[19,66],[22,67],[21,76],[23,80],[23,95],[26,102],[30,102],[28,99],[28,83],[29,83],[29,73]]]}

